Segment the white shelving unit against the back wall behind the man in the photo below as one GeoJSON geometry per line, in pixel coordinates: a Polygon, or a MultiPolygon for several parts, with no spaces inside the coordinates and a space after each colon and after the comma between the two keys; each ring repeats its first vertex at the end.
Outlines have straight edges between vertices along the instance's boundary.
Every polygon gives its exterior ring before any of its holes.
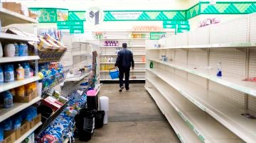
{"type": "MultiPolygon", "coordinates": [[[[128,50],[131,50],[134,55],[134,64],[136,70],[132,71],[134,73],[134,76],[138,76],[139,78],[137,79],[130,79],[130,80],[142,80],[145,77],[145,63],[142,62],[142,58],[145,57],[146,55],[146,50],[145,50],[145,40],[149,39],[149,33],[144,33],[146,34],[146,38],[131,38],[131,34],[133,33],[132,30],[127,30],[127,31],[105,31],[102,32],[104,33],[103,39],[100,40],[100,66],[103,66],[105,64],[107,65],[114,65],[114,63],[110,62],[102,62],[103,58],[107,57],[113,57],[114,60],[117,58],[116,51],[118,48],[122,48],[122,43],[127,42],[127,48],[128,50]],[[107,41],[117,41],[119,43],[119,46],[104,46],[105,40],[107,41]]],[[[136,31],[135,33],[139,33],[139,31],[136,31]]],[[[102,70],[100,71],[101,74],[101,81],[117,81],[117,80],[112,80],[107,73],[108,71],[102,70]]]]}

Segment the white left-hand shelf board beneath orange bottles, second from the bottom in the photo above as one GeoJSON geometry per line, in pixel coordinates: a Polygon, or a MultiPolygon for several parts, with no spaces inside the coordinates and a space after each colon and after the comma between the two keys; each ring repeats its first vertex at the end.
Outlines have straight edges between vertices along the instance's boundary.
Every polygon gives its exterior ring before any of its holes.
{"type": "Polygon", "coordinates": [[[41,97],[36,97],[29,103],[14,103],[14,106],[11,108],[1,108],[0,109],[0,122],[6,120],[12,115],[20,112],[21,110],[28,108],[28,106],[33,105],[34,103],[41,100],[41,97]]]}

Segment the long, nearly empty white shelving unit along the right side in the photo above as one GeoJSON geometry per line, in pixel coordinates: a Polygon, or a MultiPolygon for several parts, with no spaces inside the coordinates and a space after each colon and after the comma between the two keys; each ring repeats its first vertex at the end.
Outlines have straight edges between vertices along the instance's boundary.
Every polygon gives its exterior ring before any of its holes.
{"type": "Polygon", "coordinates": [[[255,142],[256,83],[243,81],[256,76],[255,20],[252,14],[172,35],[159,40],[159,48],[146,43],[146,90],[155,101],[164,96],[161,103],[171,105],[201,142],[255,142]]]}

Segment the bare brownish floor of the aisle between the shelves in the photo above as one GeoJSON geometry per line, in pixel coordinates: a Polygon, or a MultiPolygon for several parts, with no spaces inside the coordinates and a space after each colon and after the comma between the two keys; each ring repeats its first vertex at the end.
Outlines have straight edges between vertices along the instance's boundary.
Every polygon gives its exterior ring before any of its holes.
{"type": "Polygon", "coordinates": [[[90,143],[178,142],[144,84],[131,84],[128,92],[118,89],[117,84],[102,85],[100,96],[110,98],[109,122],[95,130],[90,143]]]}

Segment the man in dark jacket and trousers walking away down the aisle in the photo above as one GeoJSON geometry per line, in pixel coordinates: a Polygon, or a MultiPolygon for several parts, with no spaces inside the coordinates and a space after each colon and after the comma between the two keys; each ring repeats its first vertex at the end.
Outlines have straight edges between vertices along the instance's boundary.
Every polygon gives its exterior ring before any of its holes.
{"type": "Polygon", "coordinates": [[[122,43],[122,50],[117,53],[117,61],[114,64],[114,67],[119,69],[119,92],[122,92],[124,89],[124,74],[125,74],[125,88],[129,91],[129,71],[132,66],[134,70],[134,59],[132,52],[127,50],[127,43],[122,43]]]}

